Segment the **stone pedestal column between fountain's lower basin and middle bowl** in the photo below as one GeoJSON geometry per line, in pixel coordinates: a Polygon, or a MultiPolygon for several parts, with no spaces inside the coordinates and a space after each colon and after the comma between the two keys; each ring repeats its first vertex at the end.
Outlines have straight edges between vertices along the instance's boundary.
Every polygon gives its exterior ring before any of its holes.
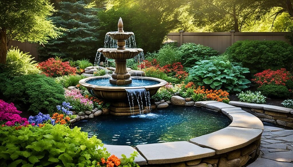
{"type": "Polygon", "coordinates": [[[126,60],[115,60],[116,69],[110,78],[110,83],[115,85],[131,84],[130,74],[126,69],[126,60]]]}

